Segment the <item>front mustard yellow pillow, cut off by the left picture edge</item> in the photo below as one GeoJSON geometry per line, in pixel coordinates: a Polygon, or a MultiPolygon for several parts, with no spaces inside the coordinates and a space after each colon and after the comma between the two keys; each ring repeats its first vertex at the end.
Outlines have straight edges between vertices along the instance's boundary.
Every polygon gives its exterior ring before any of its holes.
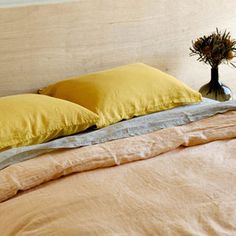
{"type": "Polygon", "coordinates": [[[0,150],[74,134],[98,120],[75,103],[37,94],[2,97],[0,111],[0,150]]]}

